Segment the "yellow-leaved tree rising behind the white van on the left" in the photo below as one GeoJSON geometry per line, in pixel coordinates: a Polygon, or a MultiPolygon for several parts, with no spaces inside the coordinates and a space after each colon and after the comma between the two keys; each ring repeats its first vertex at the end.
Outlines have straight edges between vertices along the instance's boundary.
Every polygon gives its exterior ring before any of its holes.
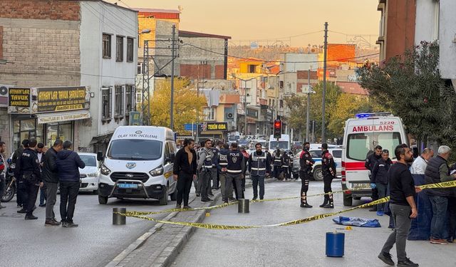
{"type": "MultiPolygon", "coordinates": [[[[186,78],[175,78],[174,89],[174,125],[176,132],[184,130],[185,123],[196,122],[197,109],[202,117],[202,107],[206,104],[204,95],[197,96],[197,91],[186,78]]],[[[171,80],[166,79],[155,85],[150,100],[150,122],[152,125],[170,127],[171,80]]]]}

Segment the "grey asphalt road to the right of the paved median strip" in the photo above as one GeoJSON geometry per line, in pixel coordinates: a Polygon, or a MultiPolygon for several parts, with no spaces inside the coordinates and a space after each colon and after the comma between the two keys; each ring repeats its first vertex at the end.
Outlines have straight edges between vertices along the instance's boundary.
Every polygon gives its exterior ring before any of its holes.
{"type": "MultiPolygon", "coordinates": [[[[323,191],[322,182],[311,182],[309,194],[323,191]]],[[[301,182],[273,182],[266,184],[265,198],[299,195],[301,182]]],[[[333,181],[333,190],[341,189],[340,180],[333,181]]],[[[247,189],[247,197],[252,197],[247,189]]],[[[264,225],[305,218],[330,211],[318,207],[323,197],[309,199],[313,209],[299,207],[299,200],[251,203],[249,214],[238,214],[237,206],[214,209],[204,223],[230,225],[264,225]]],[[[353,201],[361,204],[368,199],[353,201]]],[[[344,209],[341,194],[336,195],[336,208],[344,209]]],[[[332,217],[294,226],[247,230],[197,229],[173,266],[385,266],[378,253],[391,230],[388,216],[376,216],[367,209],[351,211],[344,216],[379,219],[381,228],[353,227],[334,224],[332,217]],[[325,255],[326,232],[345,233],[345,256],[329,258],[325,255]]],[[[408,256],[420,266],[456,266],[456,244],[432,245],[428,241],[408,241],[408,256]]],[[[397,262],[395,247],[391,251],[397,262]]]]}

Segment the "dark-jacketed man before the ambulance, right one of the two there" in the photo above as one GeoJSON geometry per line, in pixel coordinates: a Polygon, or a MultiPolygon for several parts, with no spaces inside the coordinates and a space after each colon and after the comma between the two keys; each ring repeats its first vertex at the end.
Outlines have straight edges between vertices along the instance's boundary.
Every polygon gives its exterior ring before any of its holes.
{"type": "MultiPolygon", "coordinates": [[[[372,170],[372,182],[371,187],[377,189],[378,198],[383,199],[386,196],[388,189],[388,170],[391,167],[390,152],[388,150],[382,151],[382,158],[375,163],[372,170]]],[[[377,215],[383,216],[383,206],[385,204],[377,205],[377,215]]]]}

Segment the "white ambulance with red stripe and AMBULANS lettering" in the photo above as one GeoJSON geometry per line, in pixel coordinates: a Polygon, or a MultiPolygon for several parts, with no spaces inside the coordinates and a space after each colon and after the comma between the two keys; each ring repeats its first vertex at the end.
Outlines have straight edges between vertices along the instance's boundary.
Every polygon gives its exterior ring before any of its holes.
{"type": "MultiPolygon", "coordinates": [[[[407,143],[407,135],[402,120],[391,113],[361,113],[348,119],[343,134],[342,189],[371,187],[369,170],[364,167],[366,157],[380,145],[395,162],[394,149],[403,143],[407,143]]],[[[353,199],[371,195],[370,188],[348,191],[343,193],[343,204],[351,206],[353,199]]]]}

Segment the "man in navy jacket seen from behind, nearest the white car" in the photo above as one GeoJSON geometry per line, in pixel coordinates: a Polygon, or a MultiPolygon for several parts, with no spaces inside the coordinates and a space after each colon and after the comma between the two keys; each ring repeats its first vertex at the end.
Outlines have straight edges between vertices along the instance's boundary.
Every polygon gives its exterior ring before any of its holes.
{"type": "Polygon", "coordinates": [[[84,169],[86,167],[78,153],[71,150],[72,145],[71,141],[63,142],[63,150],[57,153],[57,170],[60,181],[60,216],[63,227],[78,227],[78,224],[73,223],[73,214],[81,179],[79,168],[84,169]]]}

